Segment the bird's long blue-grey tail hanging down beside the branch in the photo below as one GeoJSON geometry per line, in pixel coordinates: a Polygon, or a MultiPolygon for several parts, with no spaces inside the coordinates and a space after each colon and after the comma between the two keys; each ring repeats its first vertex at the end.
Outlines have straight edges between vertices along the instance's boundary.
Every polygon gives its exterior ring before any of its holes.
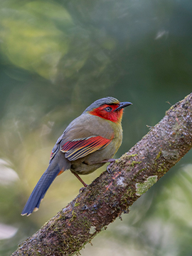
{"type": "Polygon", "coordinates": [[[48,166],[47,170],[45,171],[45,173],[43,173],[40,180],[38,180],[36,187],[33,189],[33,192],[28,198],[28,201],[23,208],[21,215],[28,216],[31,215],[33,211],[38,210],[41,200],[46,195],[50,184],[53,183],[53,180],[55,180],[58,174],[60,174],[60,168],[58,164],[56,164],[54,167],[53,165],[48,166]]]}

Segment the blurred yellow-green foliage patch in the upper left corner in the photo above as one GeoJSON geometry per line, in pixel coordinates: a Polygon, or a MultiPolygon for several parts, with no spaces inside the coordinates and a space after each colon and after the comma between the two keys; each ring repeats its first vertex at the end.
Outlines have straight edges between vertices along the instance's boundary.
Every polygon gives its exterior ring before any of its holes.
{"type": "Polygon", "coordinates": [[[51,2],[33,1],[1,10],[2,51],[16,66],[53,79],[70,43],[57,22],[73,24],[70,14],[51,2]]]}

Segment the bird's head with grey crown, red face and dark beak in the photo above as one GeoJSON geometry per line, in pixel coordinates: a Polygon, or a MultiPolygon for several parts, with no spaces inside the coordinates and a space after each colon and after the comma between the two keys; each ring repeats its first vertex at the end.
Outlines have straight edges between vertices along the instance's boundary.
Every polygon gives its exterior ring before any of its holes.
{"type": "Polygon", "coordinates": [[[88,106],[83,113],[90,113],[114,123],[120,123],[122,121],[123,108],[129,105],[132,105],[132,103],[119,102],[117,98],[113,97],[100,98],[88,106]]]}

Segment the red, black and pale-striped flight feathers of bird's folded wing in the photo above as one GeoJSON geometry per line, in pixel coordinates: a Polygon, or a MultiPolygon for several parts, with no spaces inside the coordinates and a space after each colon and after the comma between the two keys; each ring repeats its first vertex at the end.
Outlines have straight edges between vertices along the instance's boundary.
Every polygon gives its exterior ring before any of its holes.
{"type": "Polygon", "coordinates": [[[83,158],[97,150],[105,148],[112,140],[103,138],[101,136],[91,136],[88,138],[79,138],[66,142],[60,150],[65,153],[65,158],[70,161],[83,158]]]}

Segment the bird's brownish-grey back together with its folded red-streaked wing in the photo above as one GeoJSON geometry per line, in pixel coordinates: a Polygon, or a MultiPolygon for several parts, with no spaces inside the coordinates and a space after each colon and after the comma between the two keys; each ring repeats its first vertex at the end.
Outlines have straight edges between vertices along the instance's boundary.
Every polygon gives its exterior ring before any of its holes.
{"type": "Polygon", "coordinates": [[[76,160],[109,145],[114,138],[114,130],[109,123],[105,123],[104,128],[100,119],[90,114],[75,118],[58,138],[50,155],[50,162],[58,150],[65,153],[68,160],[76,160]]]}

